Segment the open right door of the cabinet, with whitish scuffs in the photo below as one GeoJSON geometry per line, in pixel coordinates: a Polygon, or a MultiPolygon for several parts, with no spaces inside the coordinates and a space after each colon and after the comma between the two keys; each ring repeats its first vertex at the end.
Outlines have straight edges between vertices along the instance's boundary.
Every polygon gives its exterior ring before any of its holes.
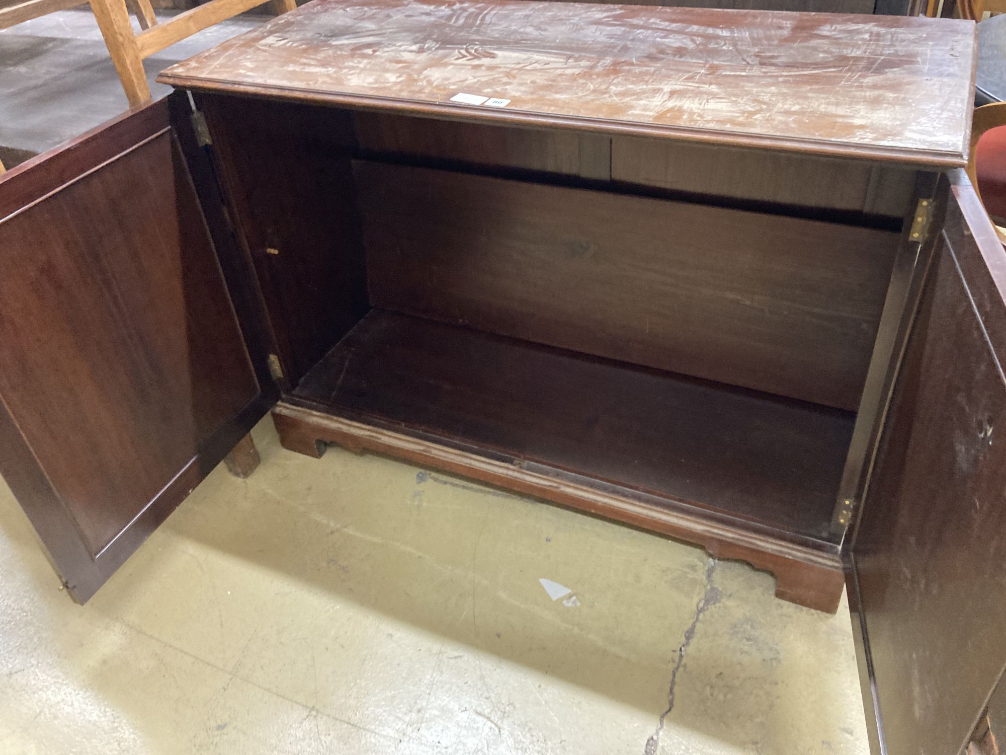
{"type": "Polygon", "coordinates": [[[958,755],[1006,664],[1006,252],[964,171],[950,183],[847,553],[888,755],[958,755]]]}

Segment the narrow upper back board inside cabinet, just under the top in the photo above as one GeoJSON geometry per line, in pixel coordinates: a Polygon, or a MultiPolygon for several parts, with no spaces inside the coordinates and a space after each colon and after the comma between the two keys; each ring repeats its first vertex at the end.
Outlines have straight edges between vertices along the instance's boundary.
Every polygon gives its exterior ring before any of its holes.
{"type": "Polygon", "coordinates": [[[880,163],[642,137],[366,111],[353,113],[353,124],[365,159],[476,168],[502,177],[534,171],[614,180],[678,195],[672,198],[693,194],[715,197],[718,204],[806,207],[817,216],[879,215],[900,222],[911,209],[915,180],[912,169],[880,163]]]}

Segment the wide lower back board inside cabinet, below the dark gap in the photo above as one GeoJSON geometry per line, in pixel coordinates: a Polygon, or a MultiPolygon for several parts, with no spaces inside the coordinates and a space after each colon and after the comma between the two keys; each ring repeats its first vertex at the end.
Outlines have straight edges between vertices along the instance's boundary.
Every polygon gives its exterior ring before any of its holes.
{"type": "Polygon", "coordinates": [[[353,164],[374,306],[856,409],[898,235],[353,164]]]}

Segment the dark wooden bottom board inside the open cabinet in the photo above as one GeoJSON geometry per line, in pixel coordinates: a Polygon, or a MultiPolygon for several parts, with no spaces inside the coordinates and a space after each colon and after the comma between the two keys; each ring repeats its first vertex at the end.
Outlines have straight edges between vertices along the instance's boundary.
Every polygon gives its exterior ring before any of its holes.
{"type": "Polygon", "coordinates": [[[847,412],[379,309],[293,397],[802,543],[827,537],[853,422],[847,412]]]}

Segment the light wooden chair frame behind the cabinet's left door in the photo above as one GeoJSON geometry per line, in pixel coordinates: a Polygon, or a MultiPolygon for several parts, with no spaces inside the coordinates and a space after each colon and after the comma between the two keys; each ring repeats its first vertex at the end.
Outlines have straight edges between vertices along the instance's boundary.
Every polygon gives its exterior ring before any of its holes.
{"type": "MultiPolygon", "coordinates": [[[[127,0],[24,0],[16,5],[0,7],[0,29],[90,2],[119,81],[126,91],[126,98],[130,106],[135,106],[150,100],[150,87],[143,72],[144,58],[207,26],[267,2],[273,3],[277,13],[297,7],[296,0],[209,0],[159,23],[150,0],[128,1],[143,29],[139,34],[133,32],[127,0]]],[[[3,172],[2,167],[0,172],[3,172]]]]}

